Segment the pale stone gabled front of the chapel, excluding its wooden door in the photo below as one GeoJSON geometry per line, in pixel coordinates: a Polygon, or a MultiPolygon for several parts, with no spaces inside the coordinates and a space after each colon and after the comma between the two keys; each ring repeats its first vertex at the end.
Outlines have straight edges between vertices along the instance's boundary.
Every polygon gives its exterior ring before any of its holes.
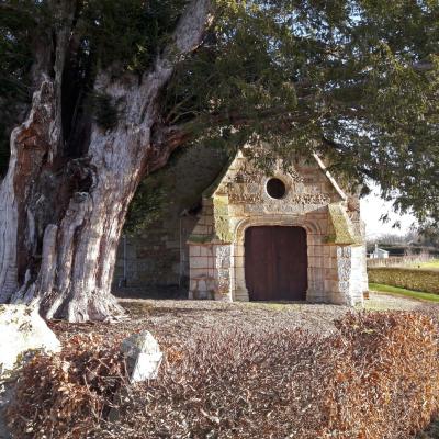
{"type": "Polygon", "coordinates": [[[188,240],[190,295],[251,299],[245,280],[246,229],[293,226],[307,234],[307,300],[362,302],[365,248],[358,206],[318,157],[295,160],[288,170],[278,161],[267,176],[239,154],[204,192],[200,219],[188,240]],[[282,196],[269,194],[271,183],[282,196]]]}

